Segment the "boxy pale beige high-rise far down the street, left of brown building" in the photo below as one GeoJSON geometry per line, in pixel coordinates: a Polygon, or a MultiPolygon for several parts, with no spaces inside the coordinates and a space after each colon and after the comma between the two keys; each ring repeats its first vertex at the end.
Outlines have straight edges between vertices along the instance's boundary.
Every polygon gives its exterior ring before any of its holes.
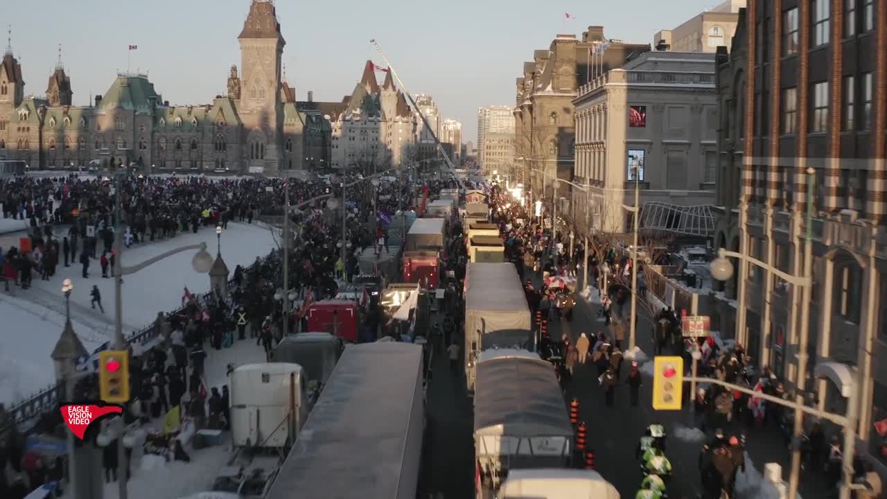
{"type": "Polygon", "coordinates": [[[514,114],[508,106],[477,108],[477,156],[485,174],[514,165],[514,114]]]}

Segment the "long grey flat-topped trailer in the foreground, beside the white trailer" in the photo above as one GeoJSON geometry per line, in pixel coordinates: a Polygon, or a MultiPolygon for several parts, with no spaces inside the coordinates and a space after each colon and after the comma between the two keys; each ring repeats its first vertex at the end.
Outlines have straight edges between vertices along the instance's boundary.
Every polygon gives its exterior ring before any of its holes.
{"type": "Polygon", "coordinates": [[[266,499],[415,499],[422,347],[348,345],[266,499]]]}

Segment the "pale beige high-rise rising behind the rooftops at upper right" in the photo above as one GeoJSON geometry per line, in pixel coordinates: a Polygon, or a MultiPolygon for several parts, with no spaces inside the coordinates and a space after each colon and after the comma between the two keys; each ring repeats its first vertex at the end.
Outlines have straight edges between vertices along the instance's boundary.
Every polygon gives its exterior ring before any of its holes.
{"type": "Polygon", "coordinates": [[[736,32],[739,10],[746,0],[726,0],[701,12],[678,28],[663,29],[653,36],[653,46],[659,50],[676,52],[714,53],[720,46],[730,46],[736,32]]]}

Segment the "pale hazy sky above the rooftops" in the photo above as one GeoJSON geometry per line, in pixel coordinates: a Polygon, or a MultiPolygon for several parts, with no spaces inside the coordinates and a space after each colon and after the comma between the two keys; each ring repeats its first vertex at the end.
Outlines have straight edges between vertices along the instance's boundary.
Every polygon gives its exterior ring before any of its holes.
{"type": "MultiPolygon", "coordinates": [[[[209,103],[224,94],[228,69],[240,64],[237,36],[252,0],[4,0],[0,22],[12,25],[12,49],[27,94],[43,95],[58,59],[74,88],[75,105],[104,93],[117,70],[148,71],[163,99],[209,103]]],[[[579,36],[589,25],[605,35],[648,44],[714,0],[277,0],[283,61],[298,99],[350,94],[366,59],[380,66],[375,38],[410,91],[431,94],[444,118],[462,123],[476,141],[477,107],[514,105],[514,78],[533,50],[558,33],[579,36]],[[576,16],[565,21],[564,12],[576,16]],[[566,30],[566,31],[565,31],[566,30]]],[[[5,33],[4,33],[4,38],[5,33]]],[[[5,40],[3,41],[5,45],[5,40]]],[[[381,82],[384,74],[379,73],[381,82]]]]}

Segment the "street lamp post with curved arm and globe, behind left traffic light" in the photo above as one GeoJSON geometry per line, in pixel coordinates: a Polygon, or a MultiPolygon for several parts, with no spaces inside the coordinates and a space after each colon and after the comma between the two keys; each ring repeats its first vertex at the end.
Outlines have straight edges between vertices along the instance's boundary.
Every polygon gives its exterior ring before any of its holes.
{"type": "MultiPolygon", "coordinates": [[[[137,273],[142,270],[146,266],[153,265],[164,258],[171,257],[173,255],[177,255],[178,253],[182,253],[184,251],[197,249],[197,254],[192,257],[191,265],[194,270],[198,273],[208,273],[209,269],[213,266],[213,257],[209,255],[207,252],[207,243],[201,242],[200,244],[190,244],[188,246],[183,246],[177,249],[170,249],[169,251],[162,253],[156,257],[148,258],[144,262],[132,265],[128,267],[124,267],[122,264],[123,260],[123,227],[122,227],[122,216],[123,216],[123,207],[122,207],[122,180],[126,176],[126,171],[123,169],[119,169],[114,174],[114,349],[115,350],[127,350],[126,338],[123,337],[123,276],[130,275],[131,273],[137,273]]],[[[220,240],[221,241],[221,240],[220,240]]],[[[119,421],[119,434],[122,435],[123,432],[123,418],[118,417],[119,421]]],[[[122,442],[121,442],[122,443],[122,442]]],[[[124,446],[117,446],[117,476],[120,478],[118,481],[120,483],[120,499],[126,499],[127,490],[126,490],[126,452],[123,448],[124,446]]]]}

